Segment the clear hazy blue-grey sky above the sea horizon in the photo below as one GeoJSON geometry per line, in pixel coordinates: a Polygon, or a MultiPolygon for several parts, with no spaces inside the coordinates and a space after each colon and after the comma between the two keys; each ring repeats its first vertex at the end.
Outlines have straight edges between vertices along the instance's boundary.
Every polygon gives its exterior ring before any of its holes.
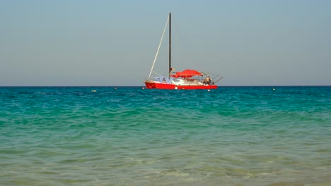
{"type": "Polygon", "coordinates": [[[169,12],[175,70],[220,74],[219,86],[331,85],[330,9],[327,0],[0,0],[0,86],[144,86],[169,12]]]}

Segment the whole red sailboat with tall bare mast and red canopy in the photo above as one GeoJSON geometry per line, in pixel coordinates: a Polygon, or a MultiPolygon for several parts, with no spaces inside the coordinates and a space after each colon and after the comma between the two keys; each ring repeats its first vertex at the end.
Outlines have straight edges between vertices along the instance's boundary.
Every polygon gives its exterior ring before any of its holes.
{"type": "MultiPolygon", "coordinates": [[[[181,72],[176,72],[174,68],[171,67],[171,13],[169,13],[168,20],[165,23],[163,30],[163,35],[161,37],[161,42],[158,45],[158,51],[154,58],[153,66],[149,77],[144,80],[147,89],[216,89],[216,82],[221,80],[223,77],[219,77],[219,80],[214,81],[211,78],[209,72],[199,72],[197,70],[186,69],[181,72]],[[156,58],[158,56],[158,51],[160,49],[163,36],[166,27],[169,23],[169,71],[168,75],[159,75],[157,77],[151,77],[156,58]]],[[[219,75],[216,75],[218,77],[219,75]]]]}

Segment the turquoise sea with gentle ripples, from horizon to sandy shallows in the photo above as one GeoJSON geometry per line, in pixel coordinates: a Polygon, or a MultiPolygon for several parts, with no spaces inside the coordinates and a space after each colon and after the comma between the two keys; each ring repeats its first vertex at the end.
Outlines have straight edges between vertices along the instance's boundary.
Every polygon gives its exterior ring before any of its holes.
{"type": "Polygon", "coordinates": [[[0,87],[0,185],[331,185],[331,87],[0,87]]]}

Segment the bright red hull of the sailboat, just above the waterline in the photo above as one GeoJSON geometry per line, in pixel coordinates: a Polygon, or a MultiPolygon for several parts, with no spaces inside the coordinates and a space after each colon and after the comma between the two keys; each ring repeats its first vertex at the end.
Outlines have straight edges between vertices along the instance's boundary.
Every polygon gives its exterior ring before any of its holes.
{"type": "Polygon", "coordinates": [[[217,89],[217,85],[173,85],[168,83],[145,82],[147,89],[217,89]]]}

